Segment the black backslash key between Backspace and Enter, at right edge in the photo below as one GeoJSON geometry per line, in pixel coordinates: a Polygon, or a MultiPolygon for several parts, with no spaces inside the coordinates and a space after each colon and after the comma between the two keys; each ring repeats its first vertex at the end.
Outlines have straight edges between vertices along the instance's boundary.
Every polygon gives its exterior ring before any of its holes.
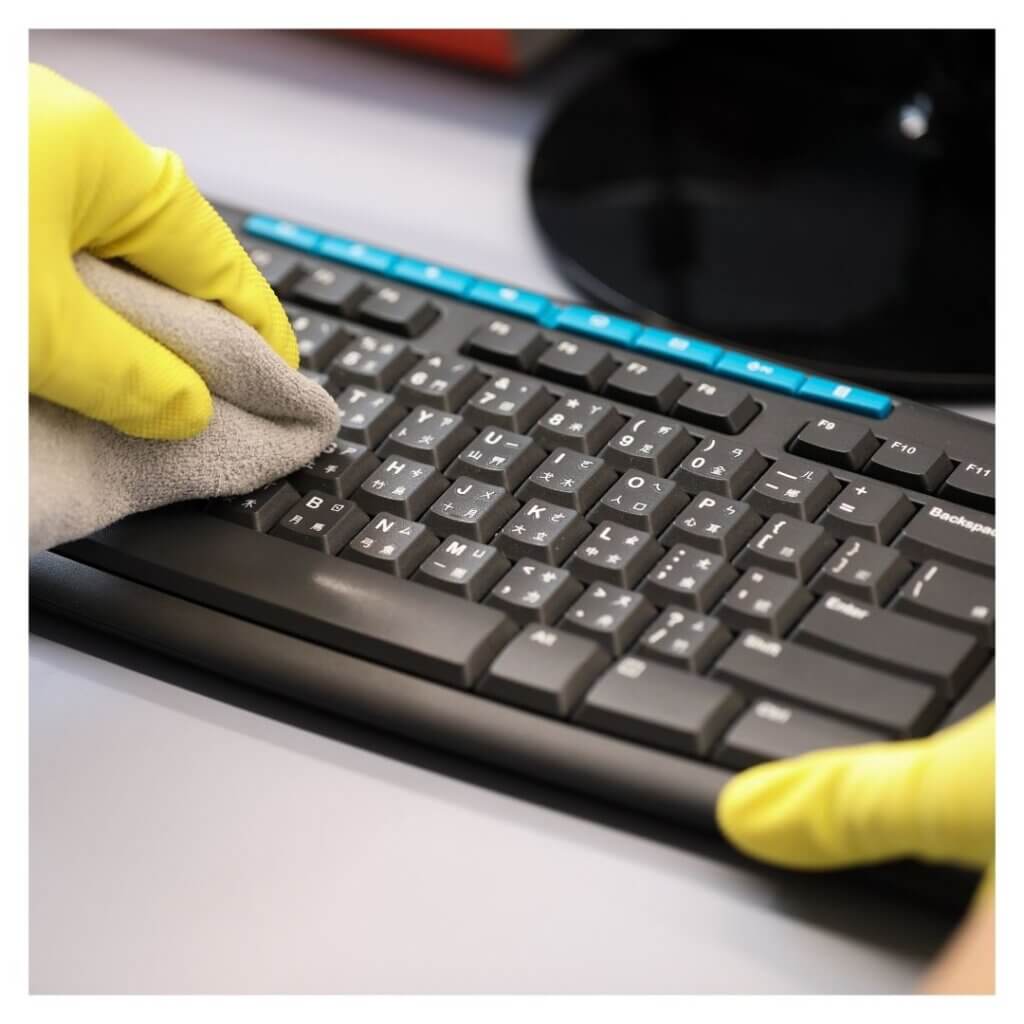
{"type": "Polygon", "coordinates": [[[995,584],[988,577],[928,561],[903,585],[892,608],[995,644],[995,584]]]}

